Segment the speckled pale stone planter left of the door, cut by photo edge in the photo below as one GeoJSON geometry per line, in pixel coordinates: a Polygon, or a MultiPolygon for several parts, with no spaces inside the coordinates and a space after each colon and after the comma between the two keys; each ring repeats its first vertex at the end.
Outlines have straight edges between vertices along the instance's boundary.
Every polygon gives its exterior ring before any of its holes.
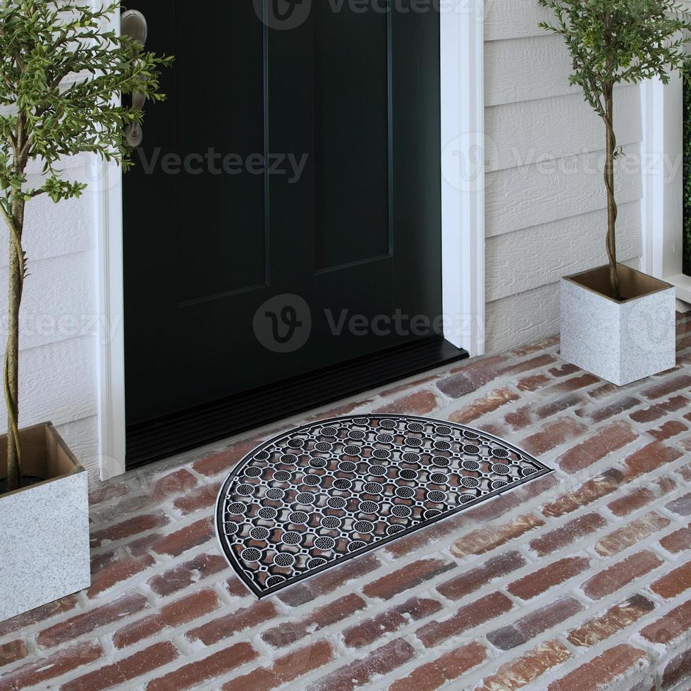
{"type": "Polygon", "coordinates": [[[0,621],[91,584],[87,473],[52,424],[20,435],[23,474],[46,479],[0,494],[0,621]]]}

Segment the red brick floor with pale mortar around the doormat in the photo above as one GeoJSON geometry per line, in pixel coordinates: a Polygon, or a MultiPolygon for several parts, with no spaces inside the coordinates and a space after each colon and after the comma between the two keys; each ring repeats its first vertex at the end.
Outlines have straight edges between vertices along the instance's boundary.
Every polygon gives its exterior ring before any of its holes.
{"type": "Polygon", "coordinates": [[[92,487],[93,585],[0,623],[0,691],[691,687],[691,317],[622,389],[558,340],[440,370],[92,487]],[[421,412],[556,468],[256,601],[216,546],[219,482],[303,420],[421,412]]]}

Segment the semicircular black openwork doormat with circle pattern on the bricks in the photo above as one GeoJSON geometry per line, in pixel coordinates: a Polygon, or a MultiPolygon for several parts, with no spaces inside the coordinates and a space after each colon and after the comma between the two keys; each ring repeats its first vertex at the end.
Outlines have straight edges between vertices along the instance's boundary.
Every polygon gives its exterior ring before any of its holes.
{"type": "Polygon", "coordinates": [[[257,597],[552,472],[460,424],[320,420],[255,448],[216,502],[226,558],[257,597]]]}

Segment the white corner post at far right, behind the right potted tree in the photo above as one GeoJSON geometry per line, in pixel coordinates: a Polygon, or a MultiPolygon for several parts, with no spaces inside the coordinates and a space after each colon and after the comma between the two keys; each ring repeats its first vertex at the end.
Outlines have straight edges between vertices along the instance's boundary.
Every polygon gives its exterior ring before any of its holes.
{"type": "MultiPolygon", "coordinates": [[[[642,269],[675,286],[677,298],[691,302],[691,277],[683,267],[683,80],[641,85],[643,142],[642,269]]],[[[679,305],[684,308],[683,305],[679,305]]]]}

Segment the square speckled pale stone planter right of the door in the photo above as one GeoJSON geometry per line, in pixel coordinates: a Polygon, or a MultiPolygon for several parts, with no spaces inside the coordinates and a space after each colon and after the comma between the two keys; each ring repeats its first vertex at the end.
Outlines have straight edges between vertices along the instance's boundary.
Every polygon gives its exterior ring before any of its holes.
{"type": "Polygon", "coordinates": [[[619,264],[625,300],[609,297],[609,267],[561,280],[561,357],[617,386],[675,366],[675,289],[619,264]]]}

